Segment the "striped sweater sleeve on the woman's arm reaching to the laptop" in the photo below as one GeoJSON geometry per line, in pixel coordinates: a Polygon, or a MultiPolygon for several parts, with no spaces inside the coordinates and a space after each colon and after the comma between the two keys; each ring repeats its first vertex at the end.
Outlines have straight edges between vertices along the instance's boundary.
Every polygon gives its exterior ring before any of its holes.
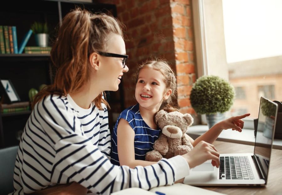
{"type": "Polygon", "coordinates": [[[42,127],[55,146],[51,183],[78,182],[94,193],[110,194],[128,187],[150,189],[171,185],[189,174],[181,156],[162,159],[148,167],[112,165],[99,148],[83,136],[81,124],[60,101],[44,100],[37,105],[42,127]]]}

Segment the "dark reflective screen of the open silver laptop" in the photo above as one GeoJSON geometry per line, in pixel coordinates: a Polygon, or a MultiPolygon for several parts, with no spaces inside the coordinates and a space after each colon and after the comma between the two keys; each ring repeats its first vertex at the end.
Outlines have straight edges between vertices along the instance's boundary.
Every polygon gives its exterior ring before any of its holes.
{"type": "Polygon", "coordinates": [[[278,105],[264,97],[260,98],[259,120],[254,147],[254,155],[258,160],[265,180],[267,181],[270,154],[274,137],[278,105]]]}

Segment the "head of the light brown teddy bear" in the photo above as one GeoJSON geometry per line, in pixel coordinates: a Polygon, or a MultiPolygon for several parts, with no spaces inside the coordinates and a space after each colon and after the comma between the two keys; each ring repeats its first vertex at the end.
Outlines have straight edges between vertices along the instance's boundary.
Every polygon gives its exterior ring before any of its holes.
{"type": "Polygon", "coordinates": [[[162,133],[171,138],[180,138],[193,123],[193,117],[190,114],[182,114],[177,111],[166,112],[165,110],[157,112],[155,120],[162,133]]]}

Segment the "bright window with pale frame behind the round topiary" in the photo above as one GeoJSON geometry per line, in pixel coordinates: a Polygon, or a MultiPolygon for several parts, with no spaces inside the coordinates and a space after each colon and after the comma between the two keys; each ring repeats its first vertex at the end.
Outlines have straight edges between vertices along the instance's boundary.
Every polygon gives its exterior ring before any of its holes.
{"type": "Polygon", "coordinates": [[[198,76],[217,75],[236,90],[231,115],[257,118],[259,98],[282,97],[282,1],[195,0],[198,76]]]}

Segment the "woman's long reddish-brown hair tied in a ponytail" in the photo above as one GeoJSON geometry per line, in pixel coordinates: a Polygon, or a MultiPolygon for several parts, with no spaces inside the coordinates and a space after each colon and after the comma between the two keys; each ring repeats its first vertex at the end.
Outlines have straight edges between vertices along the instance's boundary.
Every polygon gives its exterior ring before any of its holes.
{"type": "MultiPolygon", "coordinates": [[[[56,42],[51,50],[51,60],[56,68],[55,80],[34,98],[33,106],[49,94],[67,95],[76,92],[89,80],[89,55],[105,51],[107,37],[111,33],[123,37],[123,26],[117,19],[104,13],[93,14],[76,8],[62,21],[56,42]]],[[[102,93],[94,99],[102,109],[102,93]]]]}

